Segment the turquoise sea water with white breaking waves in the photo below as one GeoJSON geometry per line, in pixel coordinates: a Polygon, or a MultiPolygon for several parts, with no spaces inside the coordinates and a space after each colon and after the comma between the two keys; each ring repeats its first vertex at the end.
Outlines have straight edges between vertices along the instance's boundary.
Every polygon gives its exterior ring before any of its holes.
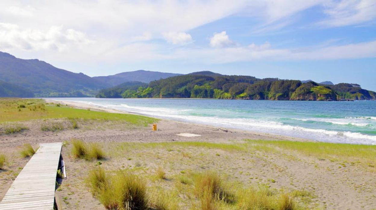
{"type": "Polygon", "coordinates": [[[56,98],[158,118],[302,137],[376,145],[376,101],[56,98]]]}

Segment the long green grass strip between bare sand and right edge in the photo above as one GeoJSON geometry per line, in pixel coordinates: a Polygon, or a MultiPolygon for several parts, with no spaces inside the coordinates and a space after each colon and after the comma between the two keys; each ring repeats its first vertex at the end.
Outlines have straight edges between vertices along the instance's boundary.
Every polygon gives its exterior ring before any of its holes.
{"type": "Polygon", "coordinates": [[[229,143],[212,142],[153,142],[153,143],[118,143],[114,154],[120,151],[131,151],[141,148],[178,148],[203,147],[223,151],[238,151],[253,153],[265,151],[268,153],[286,153],[291,157],[296,155],[313,156],[320,160],[347,162],[358,164],[368,169],[376,169],[376,145],[337,144],[326,142],[270,141],[244,140],[229,143]],[[287,152],[288,151],[288,152],[287,152]]]}

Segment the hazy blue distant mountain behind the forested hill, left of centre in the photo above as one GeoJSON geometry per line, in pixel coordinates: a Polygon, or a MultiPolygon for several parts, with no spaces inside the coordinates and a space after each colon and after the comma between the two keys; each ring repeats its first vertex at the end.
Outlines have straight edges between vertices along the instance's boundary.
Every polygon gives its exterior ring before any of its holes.
{"type": "Polygon", "coordinates": [[[99,77],[92,77],[96,79],[100,83],[104,83],[110,87],[115,85],[120,85],[124,82],[130,81],[139,81],[144,83],[149,83],[154,80],[165,79],[168,77],[179,76],[182,74],[174,74],[174,73],[164,73],[158,71],[145,71],[145,70],[138,70],[138,71],[129,71],[123,72],[111,76],[99,76],[99,77]]]}

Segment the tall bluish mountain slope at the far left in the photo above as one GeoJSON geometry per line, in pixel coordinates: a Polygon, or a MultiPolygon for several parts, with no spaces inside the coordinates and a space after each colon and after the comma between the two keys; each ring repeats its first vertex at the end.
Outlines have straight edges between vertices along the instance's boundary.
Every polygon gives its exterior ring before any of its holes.
{"type": "Polygon", "coordinates": [[[56,68],[38,59],[0,52],[0,80],[21,86],[37,97],[85,96],[107,87],[83,74],[56,68]]]}

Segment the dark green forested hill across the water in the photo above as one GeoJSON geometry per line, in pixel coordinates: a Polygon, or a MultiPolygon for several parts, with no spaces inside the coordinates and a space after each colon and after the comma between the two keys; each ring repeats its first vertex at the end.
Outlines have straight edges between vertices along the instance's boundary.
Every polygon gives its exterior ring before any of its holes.
{"type": "MultiPolygon", "coordinates": [[[[170,77],[138,88],[117,87],[123,98],[218,98],[248,100],[375,100],[376,93],[356,84],[323,85],[315,82],[251,76],[218,75],[208,71],[170,77]]],[[[97,97],[112,98],[101,92],[97,97]]]]}

